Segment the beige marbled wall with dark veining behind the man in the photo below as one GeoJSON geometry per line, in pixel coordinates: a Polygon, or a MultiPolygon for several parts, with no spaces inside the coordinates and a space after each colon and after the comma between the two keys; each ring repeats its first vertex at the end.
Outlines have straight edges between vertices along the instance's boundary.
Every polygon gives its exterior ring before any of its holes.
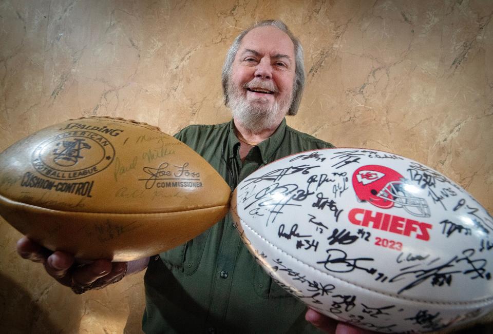
{"type": "MultiPolygon", "coordinates": [[[[0,150],[47,125],[110,115],[174,133],[229,119],[220,70],[257,19],[306,51],[288,123],[339,147],[438,169],[493,211],[493,2],[0,1],[0,150]]],[[[0,220],[0,323],[9,332],[139,332],[142,274],[74,296],[15,252],[0,220]]]]}

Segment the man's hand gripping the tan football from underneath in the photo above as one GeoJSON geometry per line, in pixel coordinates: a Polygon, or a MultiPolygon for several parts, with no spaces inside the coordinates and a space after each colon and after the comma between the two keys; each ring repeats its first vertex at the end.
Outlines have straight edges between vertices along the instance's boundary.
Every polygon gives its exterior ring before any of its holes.
{"type": "Polygon", "coordinates": [[[118,282],[125,276],[128,266],[127,262],[109,260],[80,263],[72,254],[51,252],[26,237],[17,242],[17,252],[24,259],[44,264],[51,277],[77,294],[118,282]]]}

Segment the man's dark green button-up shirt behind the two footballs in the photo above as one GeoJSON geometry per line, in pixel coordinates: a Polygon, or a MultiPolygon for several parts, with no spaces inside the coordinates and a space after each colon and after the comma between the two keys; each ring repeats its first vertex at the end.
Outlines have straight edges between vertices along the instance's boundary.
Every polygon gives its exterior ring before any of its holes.
{"type": "MultiPolygon", "coordinates": [[[[283,120],[244,162],[233,121],[192,125],[176,138],[205,158],[232,190],[259,167],[297,152],[333,147],[283,120]]],[[[143,330],[158,332],[314,332],[306,306],[266,274],[242,244],[231,215],[149,261],[143,330]]]]}

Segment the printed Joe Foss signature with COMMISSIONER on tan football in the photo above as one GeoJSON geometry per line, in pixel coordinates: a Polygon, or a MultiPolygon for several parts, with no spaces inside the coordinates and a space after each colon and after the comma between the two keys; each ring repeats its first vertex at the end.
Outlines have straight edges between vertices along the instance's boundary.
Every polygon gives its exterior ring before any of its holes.
{"type": "Polygon", "coordinates": [[[144,167],[142,170],[150,176],[148,179],[139,179],[139,181],[145,181],[146,189],[153,188],[160,180],[200,181],[200,172],[190,170],[188,165],[187,162],[183,165],[169,165],[163,162],[157,168],[144,167]]]}

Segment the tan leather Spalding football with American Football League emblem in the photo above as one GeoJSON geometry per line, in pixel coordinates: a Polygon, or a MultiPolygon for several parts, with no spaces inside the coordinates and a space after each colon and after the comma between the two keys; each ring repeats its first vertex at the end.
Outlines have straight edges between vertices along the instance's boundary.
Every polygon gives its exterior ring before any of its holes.
{"type": "Polygon", "coordinates": [[[81,259],[129,261],[194,238],[226,214],[230,188],[159,128],[69,120],[0,154],[0,214],[30,239],[81,259]]]}

